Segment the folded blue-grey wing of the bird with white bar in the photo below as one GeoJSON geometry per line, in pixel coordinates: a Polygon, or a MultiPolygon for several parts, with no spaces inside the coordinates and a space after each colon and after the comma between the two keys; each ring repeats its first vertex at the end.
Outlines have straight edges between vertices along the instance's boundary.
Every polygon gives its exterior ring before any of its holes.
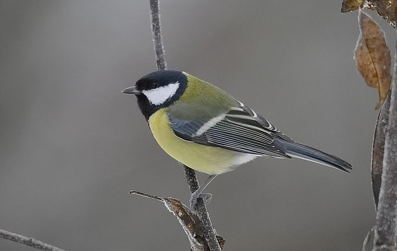
{"type": "Polygon", "coordinates": [[[233,151],[290,158],[280,141],[292,141],[241,103],[211,119],[184,120],[168,113],[175,134],[191,142],[233,151]]]}

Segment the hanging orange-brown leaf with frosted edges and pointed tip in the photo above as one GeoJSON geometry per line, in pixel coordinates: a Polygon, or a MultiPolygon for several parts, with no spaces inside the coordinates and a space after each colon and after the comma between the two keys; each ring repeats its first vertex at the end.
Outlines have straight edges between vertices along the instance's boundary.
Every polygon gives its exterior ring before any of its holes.
{"type": "Polygon", "coordinates": [[[378,89],[379,101],[375,107],[378,109],[385,101],[392,82],[390,50],[383,31],[361,10],[358,13],[358,25],[360,35],[354,49],[354,59],[365,83],[378,89]]]}

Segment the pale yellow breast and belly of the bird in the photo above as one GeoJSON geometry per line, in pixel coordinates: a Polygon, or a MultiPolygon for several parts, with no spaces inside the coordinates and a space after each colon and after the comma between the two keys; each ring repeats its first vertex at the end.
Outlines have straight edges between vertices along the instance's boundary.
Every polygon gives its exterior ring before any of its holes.
{"type": "Polygon", "coordinates": [[[165,108],[150,116],[149,126],[157,143],[165,152],[199,172],[220,174],[255,158],[252,154],[247,155],[182,140],[174,134],[165,108]]]}

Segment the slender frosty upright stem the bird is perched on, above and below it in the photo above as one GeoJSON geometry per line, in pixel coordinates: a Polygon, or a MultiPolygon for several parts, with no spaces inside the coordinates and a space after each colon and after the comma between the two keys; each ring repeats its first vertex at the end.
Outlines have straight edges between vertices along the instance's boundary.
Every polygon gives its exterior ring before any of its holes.
{"type": "MultiPolygon", "coordinates": [[[[164,57],[163,39],[161,37],[159,0],[150,0],[150,17],[152,23],[153,46],[156,53],[156,62],[158,70],[166,70],[167,62],[164,57]]],[[[186,180],[188,181],[191,193],[199,189],[199,182],[197,181],[196,173],[193,169],[183,165],[185,170],[186,180]]],[[[196,212],[201,220],[203,226],[204,237],[207,241],[210,251],[221,251],[219,243],[216,238],[216,232],[209,219],[207,208],[204,201],[199,198],[196,205],[196,212]]]]}

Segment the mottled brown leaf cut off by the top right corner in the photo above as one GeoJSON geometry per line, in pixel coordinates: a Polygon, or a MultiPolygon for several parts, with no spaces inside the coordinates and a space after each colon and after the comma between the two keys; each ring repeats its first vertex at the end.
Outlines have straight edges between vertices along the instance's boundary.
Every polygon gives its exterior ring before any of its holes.
{"type": "Polygon", "coordinates": [[[397,0],[367,0],[364,7],[376,10],[390,25],[396,27],[397,0]]]}

